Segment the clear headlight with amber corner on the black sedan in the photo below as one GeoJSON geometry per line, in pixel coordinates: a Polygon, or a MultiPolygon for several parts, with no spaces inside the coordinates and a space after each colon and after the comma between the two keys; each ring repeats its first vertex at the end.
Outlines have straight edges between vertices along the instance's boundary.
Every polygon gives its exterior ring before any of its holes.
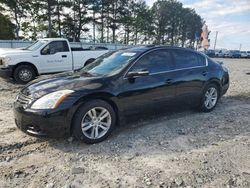
{"type": "Polygon", "coordinates": [[[60,90],[49,93],[35,101],[31,109],[55,109],[73,90],[60,90]]]}

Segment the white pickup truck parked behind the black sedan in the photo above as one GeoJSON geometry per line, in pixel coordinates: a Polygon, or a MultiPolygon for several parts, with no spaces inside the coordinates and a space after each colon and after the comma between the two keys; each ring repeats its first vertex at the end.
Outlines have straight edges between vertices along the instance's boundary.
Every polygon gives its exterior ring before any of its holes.
{"type": "Polygon", "coordinates": [[[63,38],[40,39],[26,48],[0,49],[0,76],[24,84],[41,74],[80,69],[107,52],[70,48],[63,38]]]}

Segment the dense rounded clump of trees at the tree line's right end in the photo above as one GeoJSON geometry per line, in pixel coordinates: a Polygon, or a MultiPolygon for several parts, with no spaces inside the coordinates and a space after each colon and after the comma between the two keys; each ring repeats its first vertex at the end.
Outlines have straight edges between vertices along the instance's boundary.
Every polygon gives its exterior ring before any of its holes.
{"type": "Polygon", "coordinates": [[[193,9],[183,8],[176,0],[158,0],[152,7],[155,42],[176,46],[194,45],[194,36],[200,32],[202,19],[193,9]]]}

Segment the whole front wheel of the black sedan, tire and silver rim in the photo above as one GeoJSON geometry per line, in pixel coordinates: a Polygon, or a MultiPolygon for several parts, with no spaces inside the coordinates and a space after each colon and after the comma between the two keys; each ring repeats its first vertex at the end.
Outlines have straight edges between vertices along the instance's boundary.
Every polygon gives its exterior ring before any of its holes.
{"type": "Polygon", "coordinates": [[[80,107],[73,120],[73,135],[87,144],[105,140],[116,124],[113,107],[103,100],[89,101],[80,107]]]}

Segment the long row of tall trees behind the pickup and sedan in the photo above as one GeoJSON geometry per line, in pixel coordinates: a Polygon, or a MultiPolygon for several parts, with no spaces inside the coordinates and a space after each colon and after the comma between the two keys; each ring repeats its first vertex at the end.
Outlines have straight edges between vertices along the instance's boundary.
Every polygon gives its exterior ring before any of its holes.
{"type": "Polygon", "coordinates": [[[177,0],[0,0],[0,39],[193,46],[203,20],[177,0]],[[22,35],[22,37],[20,36],[22,35]]]}

